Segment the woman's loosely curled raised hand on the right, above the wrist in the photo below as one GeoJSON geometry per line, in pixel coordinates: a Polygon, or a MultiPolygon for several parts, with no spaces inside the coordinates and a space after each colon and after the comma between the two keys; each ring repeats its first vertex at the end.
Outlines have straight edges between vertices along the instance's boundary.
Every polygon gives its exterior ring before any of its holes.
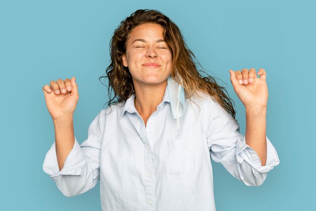
{"type": "Polygon", "coordinates": [[[266,71],[259,69],[258,76],[254,68],[242,69],[241,71],[229,70],[230,80],[233,88],[247,108],[267,107],[268,87],[266,81],[266,71]]]}

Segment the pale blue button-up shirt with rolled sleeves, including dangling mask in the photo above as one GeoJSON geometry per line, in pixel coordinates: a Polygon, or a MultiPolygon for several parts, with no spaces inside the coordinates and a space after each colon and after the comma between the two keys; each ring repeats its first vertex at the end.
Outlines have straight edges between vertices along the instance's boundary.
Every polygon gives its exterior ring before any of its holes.
{"type": "Polygon", "coordinates": [[[261,166],[226,110],[206,95],[184,99],[171,78],[146,126],[134,97],[97,114],[87,140],[79,145],[75,138],[61,171],[52,144],[43,170],[65,196],[84,193],[99,180],[102,211],[215,211],[211,159],[248,186],[261,185],[280,162],[267,138],[261,166]]]}

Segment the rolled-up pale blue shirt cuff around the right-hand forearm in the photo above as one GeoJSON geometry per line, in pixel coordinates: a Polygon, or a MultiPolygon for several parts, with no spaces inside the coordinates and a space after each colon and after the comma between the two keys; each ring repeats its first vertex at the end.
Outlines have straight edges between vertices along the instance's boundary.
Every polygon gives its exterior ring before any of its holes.
{"type": "Polygon", "coordinates": [[[261,174],[267,174],[271,171],[274,166],[280,163],[277,150],[272,145],[271,141],[267,139],[267,159],[266,165],[261,165],[260,158],[258,154],[246,144],[245,136],[242,136],[237,140],[236,146],[236,159],[241,164],[244,160],[249,163],[256,171],[261,174]]]}

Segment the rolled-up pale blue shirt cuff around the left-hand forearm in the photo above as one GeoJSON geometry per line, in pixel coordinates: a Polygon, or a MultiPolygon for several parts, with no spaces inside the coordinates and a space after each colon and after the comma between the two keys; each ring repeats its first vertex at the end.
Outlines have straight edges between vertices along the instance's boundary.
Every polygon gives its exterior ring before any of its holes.
{"type": "Polygon", "coordinates": [[[81,175],[85,162],[84,153],[75,137],[74,146],[68,154],[62,170],[59,170],[55,142],[46,153],[43,170],[53,180],[57,181],[62,175],[81,175]]]}

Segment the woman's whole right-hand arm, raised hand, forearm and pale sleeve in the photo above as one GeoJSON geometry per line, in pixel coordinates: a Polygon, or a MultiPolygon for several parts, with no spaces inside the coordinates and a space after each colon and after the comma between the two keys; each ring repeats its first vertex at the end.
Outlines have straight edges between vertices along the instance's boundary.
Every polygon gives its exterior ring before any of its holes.
{"type": "Polygon", "coordinates": [[[276,149],[266,136],[266,73],[260,69],[260,78],[254,69],[236,73],[230,70],[230,74],[234,90],[246,108],[246,135],[239,134],[239,124],[223,108],[211,105],[208,147],[212,159],[222,163],[231,175],[248,186],[258,186],[280,163],[276,149]]]}

